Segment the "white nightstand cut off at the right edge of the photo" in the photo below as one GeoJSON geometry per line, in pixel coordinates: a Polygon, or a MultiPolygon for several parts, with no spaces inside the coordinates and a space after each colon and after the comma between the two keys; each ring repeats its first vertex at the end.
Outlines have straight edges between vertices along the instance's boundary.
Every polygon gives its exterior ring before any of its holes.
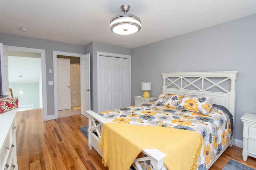
{"type": "Polygon", "coordinates": [[[256,158],[256,115],[245,113],[241,119],[244,123],[243,160],[246,161],[248,155],[256,158]]]}

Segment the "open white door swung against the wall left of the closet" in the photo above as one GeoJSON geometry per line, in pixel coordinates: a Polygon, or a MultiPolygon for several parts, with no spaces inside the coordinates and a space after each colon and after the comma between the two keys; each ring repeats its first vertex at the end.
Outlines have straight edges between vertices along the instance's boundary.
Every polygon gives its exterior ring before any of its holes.
{"type": "Polygon", "coordinates": [[[80,57],[81,114],[88,118],[91,109],[90,54],[80,57]]]}

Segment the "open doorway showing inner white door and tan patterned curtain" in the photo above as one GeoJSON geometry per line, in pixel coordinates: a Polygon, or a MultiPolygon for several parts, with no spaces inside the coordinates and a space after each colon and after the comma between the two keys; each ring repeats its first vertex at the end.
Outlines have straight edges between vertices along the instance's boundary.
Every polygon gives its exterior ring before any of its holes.
{"type": "Polygon", "coordinates": [[[57,55],[57,77],[58,118],[80,114],[80,57],[57,55]]]}

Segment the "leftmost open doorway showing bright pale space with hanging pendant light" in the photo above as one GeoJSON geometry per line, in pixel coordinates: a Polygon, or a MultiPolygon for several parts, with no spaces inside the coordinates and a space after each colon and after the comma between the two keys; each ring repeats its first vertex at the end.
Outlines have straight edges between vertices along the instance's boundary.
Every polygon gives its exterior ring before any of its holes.
{"type": "Polygon", "coordinates": [[[7,51],[9,88],[19,98],[18,111],[42,109],[42,69],[39,53],[7,51]]]}

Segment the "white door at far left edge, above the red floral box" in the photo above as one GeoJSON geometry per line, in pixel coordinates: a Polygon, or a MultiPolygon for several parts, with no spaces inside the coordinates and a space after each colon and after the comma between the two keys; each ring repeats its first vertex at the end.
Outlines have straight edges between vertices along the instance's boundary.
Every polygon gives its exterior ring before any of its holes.
{"type": "Polygon", "coordinates": [[[8,55],[7,50],[2,43],[0,43],[0,59],[1,59],[1,96],[8,97],[9,95],[9,77],[8,77],[8,55]]]}

